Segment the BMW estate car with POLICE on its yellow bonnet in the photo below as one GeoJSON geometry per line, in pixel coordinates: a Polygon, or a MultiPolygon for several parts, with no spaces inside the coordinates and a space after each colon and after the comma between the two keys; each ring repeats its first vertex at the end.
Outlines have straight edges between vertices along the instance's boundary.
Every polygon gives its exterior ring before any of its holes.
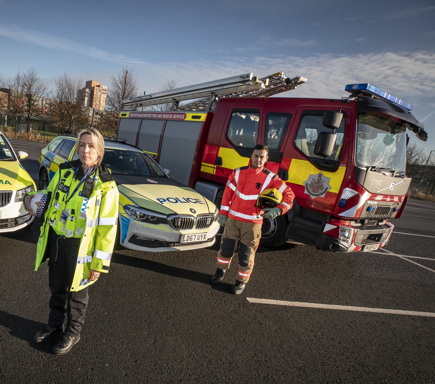
{"type": "MultiPolygon", "coordinates": [[[[40,154],[39,187],[59,164],[78,159],[77,137],[56,137],[40,154]]],[[[168,170],[125,140],[105,138],[103,163],[119,190],[119,235],[123,247],[163,252],[209,247],[219,230],[216,206],[193,189],[169,178],[168,170]],[[112,140],[110,140],[112,139],[112,140]],[[165,172],[166,171],[166,172],[165,172]]]]}

